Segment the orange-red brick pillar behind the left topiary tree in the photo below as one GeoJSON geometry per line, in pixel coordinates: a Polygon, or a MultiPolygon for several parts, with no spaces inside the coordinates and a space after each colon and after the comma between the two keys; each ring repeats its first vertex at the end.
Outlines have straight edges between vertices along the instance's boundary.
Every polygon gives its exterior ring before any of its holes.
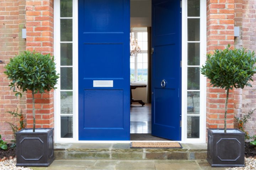
{"type": "MultiPolygon", "coordinates": [[[[53,0],[26,1],[27,50],[53,55],[53,0]]],[[[36,128],[53,128],[53,90],[36,97],[36,128]]],[[[32,128],[32,95],[27,94],[27,127],[32,128]]]]}

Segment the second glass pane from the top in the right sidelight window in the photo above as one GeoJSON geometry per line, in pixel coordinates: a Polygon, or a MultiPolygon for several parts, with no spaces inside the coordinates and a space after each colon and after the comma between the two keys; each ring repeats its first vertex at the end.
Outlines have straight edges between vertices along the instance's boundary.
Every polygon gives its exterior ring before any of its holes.
{"type": "Polygon", "coordinates": [[[200,41],[199,18],[188,18],[188,41],[200,41]]]}

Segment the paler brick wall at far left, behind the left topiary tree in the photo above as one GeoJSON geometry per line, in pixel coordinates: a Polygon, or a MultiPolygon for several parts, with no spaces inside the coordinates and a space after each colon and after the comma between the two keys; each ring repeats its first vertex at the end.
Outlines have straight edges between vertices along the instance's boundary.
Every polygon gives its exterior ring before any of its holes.
{"type": "Polygon", "coordinates": [[[14,96],[10,91],[9,80],[4,74],[4,67],[10,58],[26,49],[26,41],[21,37],[21,29],[25,28],[25,0],[0,1],[0,134],[8,142],[14,139],[10,125],[6,122],[17,123],[6,111],[23,109],[26,113],[26,94],[22,98],[14,96]]]}

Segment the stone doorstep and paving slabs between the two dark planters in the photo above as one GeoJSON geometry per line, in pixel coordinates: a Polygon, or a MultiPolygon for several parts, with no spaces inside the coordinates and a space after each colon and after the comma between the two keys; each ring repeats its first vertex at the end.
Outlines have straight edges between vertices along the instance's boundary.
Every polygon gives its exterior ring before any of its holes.
{"type": "Polygon", "coordinates": [[[56,143],[55,161],[33,170],[225,170],[206,161],[207,144],[132,149],[129,143],[56,143]]]}

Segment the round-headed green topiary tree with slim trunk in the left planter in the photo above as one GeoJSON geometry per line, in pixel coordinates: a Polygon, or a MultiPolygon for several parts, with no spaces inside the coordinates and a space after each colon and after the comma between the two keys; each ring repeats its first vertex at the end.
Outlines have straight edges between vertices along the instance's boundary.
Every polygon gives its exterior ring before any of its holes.
{"type": "Polygon", "coordinates": [[[34,94],[44,93],[56,89],[59,74],[56,73],[54,57],[49,54],[25,51],[10,59],[5,66],[7,78],[11,80],[10,89],[16,92],[15,96],[22,97],[22,92],[31,90],[33,103],[33,132],[36,127],[34,94]],[[19,90],[19,91],[17,91],[19,90]]]}

